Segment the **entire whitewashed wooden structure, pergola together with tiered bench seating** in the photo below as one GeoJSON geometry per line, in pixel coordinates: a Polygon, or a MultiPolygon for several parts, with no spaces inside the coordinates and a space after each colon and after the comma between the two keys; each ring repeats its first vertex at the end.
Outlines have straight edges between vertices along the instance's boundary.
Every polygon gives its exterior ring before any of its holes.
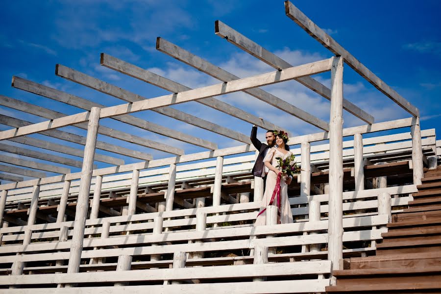
{"type": "Polygon", "coordinates": [[[0,96],[0,105],[48,120],[29,123],[0,116],[0,122],[13,127],[1,131],[0,139],[83,157],[83,161],[0,145],[6,152],[82,167],[81,172],[71,173],[67,168],[0,156],[2,162],[40,170],[0,166],[2,172],[35,178],[23,181],[23,177],[1,174],[2,179],[12,183],[0,185],[3,225],[0,229],[0,273],[3,275],[0,293],[47,293],[51,288],[59,288],[57,293],[320,293],[333,283],[331,270],[339,269],[344,256],[374,251],[381,233],[387,231],[385,225],[391,221],[392,214],[413,199],[412,193],[416,193],[417,185],[421,184],[424,166],[436,166],[441,143],[436,141],[434,129],[420,129],[415,106],[370,72],[291,2],[285,2],[285,9],[289,18],[335,56],[292,67],[217,21],[216,34],[276,71],[239,78],[158,38],[158,50],[221,83],[191,89],[102,53],[101,65],[172,92],[146,99],[65,66],[56,66],[58,76],[128,102],[106,107],[14,76],[13,87],[85,111],[67,116],[0,96]],[[344,64],[403,107],[411,117],[374,123],[371,115],[343,98],[344,64]],[[330,89],[311,77],[325,72],[331,74],[330,89]],[[293,79],[330,100],[329,122],[259,88],[293,79]],[[197,101],[259,127],[280,129],[276,122],[267,122],[216,98],[238,91],[322,130],[290,138],[292,152],[302,168],[289,192],[295,219],[292,224],[270,222],[267,226],[252,226],[260,208],[263,183],[250,173],[256,150],[247,135],[170,107],[197,101]],[[367,124],[343,128],[343,109],[367,124]],[[130,115],[146,110],[245,145],[219,149],[213,142],[130,115]],[[99,125],[99,120],[104,118],[160,133],[207,151],[184,154],[180,148],[99,125]],[[71,125],[87,129],[87,137],[57,130],[71,125]],[[392,129],[401,132],[364,137],[392,129]],[[85,147],[81,150],[28,137],[34,133],[85,147]],[[145,152],[101,142],[97,140],[98,134],[173,156],[153,159],[145,152]],[[124,164],[118,158],[95,153],[96,149],[142,161],[124,164]],[[94,161],[112,166],[97,169],[94,161]],[[58,175],[48,177],[41,171],[58,175]],[[230,255],[222,255],[228,252],[230,255]],[[206,270],[204,266],[216,268],[206,270]],[[292,278],[299,275],[308,278],[292,278]],[[16,289],[18,287],[21,288],[16,289]]]}

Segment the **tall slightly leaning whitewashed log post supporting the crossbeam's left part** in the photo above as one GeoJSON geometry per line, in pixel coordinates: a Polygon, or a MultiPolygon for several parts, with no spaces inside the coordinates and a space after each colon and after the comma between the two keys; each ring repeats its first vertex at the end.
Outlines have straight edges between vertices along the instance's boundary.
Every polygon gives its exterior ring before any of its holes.
{"type": "Polygon", "coordinates": [[[89,208],[89,191],[92,180],[92,168],[97,143],[100,108],[92,107],[89,114],[86,146],[84,147],[84,161],[81,169],[78,200],[75,211],[75,222],[71,243],[71,254],[69,256],[68,273],[79,271],[81,251],[83,250],[84,228],[86,224],[87,210],[89,208]]]}

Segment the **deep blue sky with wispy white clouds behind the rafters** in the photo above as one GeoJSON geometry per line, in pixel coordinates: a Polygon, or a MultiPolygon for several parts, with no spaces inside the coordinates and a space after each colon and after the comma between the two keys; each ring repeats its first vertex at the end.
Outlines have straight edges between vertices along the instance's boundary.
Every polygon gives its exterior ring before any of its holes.
{"type": "MultiPolygon", "coordinates": [[[[336,5],[332,1],[296,0],[293,3],[372,72],[417,106],[421,113],[422,129],[439,128],[440,1],[345,0],[336,5]]],[[[216,36],[214,34],[216,20],[221,20],[294,65],[332,56],[327,49],[285,16],[282,0],[17,0],[1,1],[0,11],[0,94],[66,114],[78,113],[81,110],[14,89],[11,87],[12,76],[18,75],[108,106],[122,104],[123,100],[55,76],[55,64],[60,63],[90,74],[146,98],[168,92],[105,69],[99,65],[99,54],[108,53],[190,87],[202,87],[218,82],[157,51],[155,49],[157,36],[240,77],[272,71],[268,65],[216,36]]],[[[330,74],[321,74],[316,78],[328,85],[330,74]]],[[[345,98],[372,114],[376,122],[409,117],[392,100],[347,66],[344,69],[344,83],[345,98]]],[[[329,101],[294,81],[267,86],[264,89],[329,121],[329,101]]],[[[318,128],[245,94],[232,94],[220,99],[279,124],[294,135],[319,132],[318,128]]],[[[244,134],[250,131],[249,123],[227,117],[196,102],[178,105],[176,108],[244,134]]],[[[1,107],[0,111],[1,114],[20,117],[34,123],[42,121],[36,116],[4,107],[1,107]]],[[[219,147],[241,145],[240,142],[153,112],[142,112],[135,116],[216,142],[219,147]]],[[[344,120],[345,127],[364,124],[348,113],[344,114],[344,120]]],[[[187,154],[204,150],[112,120],[103,120],[101,123],[183,148],[187,154]]],[[[9,128],[2,125],[0,127],[9,128]]],[[[86,134],[74,127],[65,129],[80,135],[86,134]]],[[[33,136],[80,147],[42,135],[33,136]]],[[[259,136],[260,139],[264,139],[263,131],[259,132],[259,136]]],[[[154,158],[170,156],[165,152],[122,143],[103,136],[99,136],[99,140],[145,151],[153,154],[154,158]]],[[[14,145],[20,146],[20,144],[14,145]]],[[[38,148],[33,149],[38,150],[38,148]]],[[[103,151],[98,152],[107,154],[103,151]]],[[[126,163],[134,162],[123,156],[114,156],[125,159],[126,163]]],[[[98,163],[98,166],[106,165],[98,163]]],[[[72,168],[72,171],[78,169],[72,168]]]]}

